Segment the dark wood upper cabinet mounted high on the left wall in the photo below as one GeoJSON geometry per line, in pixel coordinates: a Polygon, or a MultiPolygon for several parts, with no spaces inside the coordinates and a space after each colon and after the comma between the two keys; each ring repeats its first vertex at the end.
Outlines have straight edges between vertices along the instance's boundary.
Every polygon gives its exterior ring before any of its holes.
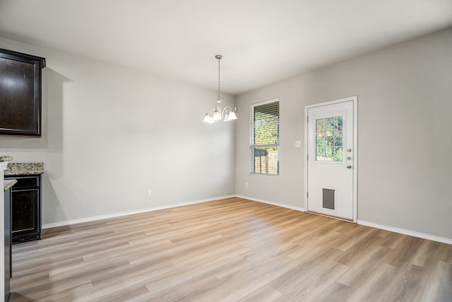
{"type": "Polygon", "coordinates": [[[41,137],[45,59],[0,49],[0,135],[41,137]]]}

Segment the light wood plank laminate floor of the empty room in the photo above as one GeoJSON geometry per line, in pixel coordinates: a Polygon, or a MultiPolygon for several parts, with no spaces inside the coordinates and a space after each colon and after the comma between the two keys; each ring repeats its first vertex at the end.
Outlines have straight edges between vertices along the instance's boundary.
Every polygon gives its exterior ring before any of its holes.
{"type": "Polygon", "coordinates": [[[44,230],[11,301],[452,301],[452,245],[231,198],[44,230]]]}

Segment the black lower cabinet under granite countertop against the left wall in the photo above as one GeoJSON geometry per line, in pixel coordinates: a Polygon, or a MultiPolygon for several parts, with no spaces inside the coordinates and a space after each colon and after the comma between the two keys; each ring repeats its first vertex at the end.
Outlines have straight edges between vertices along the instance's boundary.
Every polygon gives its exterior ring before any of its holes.
{"type": "Polygon", "coordinates": [[[8,176],[11,190],[11,242],[41,238],[41,175],[8,176]]]}

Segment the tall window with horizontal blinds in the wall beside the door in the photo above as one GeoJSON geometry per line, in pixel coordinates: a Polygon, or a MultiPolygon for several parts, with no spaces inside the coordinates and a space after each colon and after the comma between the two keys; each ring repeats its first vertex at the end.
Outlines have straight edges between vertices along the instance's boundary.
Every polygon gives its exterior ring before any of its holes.
{"type": "Polygon", "coordinates": [[[280,174],[280,102],[251,105],[250,173],[280,174]]]}

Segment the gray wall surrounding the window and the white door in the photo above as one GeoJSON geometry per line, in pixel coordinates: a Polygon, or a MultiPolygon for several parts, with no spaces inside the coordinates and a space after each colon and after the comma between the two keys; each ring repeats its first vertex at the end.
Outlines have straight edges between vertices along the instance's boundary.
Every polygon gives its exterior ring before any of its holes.
{"type": "Polygon", "coordinates": [[[304,208],[304,106],[358,97],[358,219],[452,238],[452,28],[237,97],[280,98],[280,177],[249,175],[237,121],[236,193],[304,208]],[[244,187],[248,182],[249,187],[244,187]]]}

